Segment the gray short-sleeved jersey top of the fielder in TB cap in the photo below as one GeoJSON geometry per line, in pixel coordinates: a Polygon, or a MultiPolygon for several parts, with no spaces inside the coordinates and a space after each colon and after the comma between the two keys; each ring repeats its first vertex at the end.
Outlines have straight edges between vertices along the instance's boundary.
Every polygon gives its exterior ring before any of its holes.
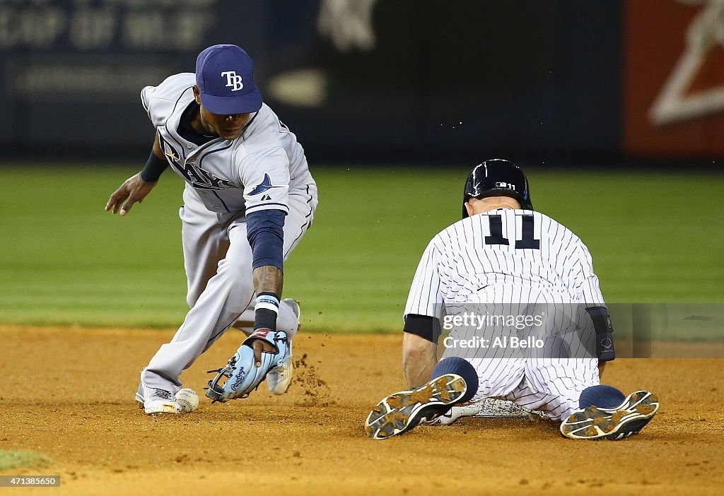
{"type": "MultiPolygon", "coordinates": [[[[290,190],[306,191],[314,180],[294,133],[262,105],[240,137],[196,145],[178,132],[182,114],[194,101],[195,74],[167,77],[141,90],[141,102],[156,127],[167,161],[216,213],[255,210],[289,212],[290,190]]],[[[314,188],[316,189],[316,187],[314,188]]]]}

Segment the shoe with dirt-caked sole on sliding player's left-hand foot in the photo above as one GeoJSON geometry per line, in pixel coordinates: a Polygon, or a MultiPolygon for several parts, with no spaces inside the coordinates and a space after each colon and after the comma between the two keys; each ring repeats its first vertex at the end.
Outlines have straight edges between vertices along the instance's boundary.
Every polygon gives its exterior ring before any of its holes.
{"type": "Polygon", "coordinates": [[[465,395],[466,390],[463,377],[445,374],[419,388],[389,395],[369,413],[364,430],[376,440],[403,434],[444,414],[452,403],[465,395]]]}

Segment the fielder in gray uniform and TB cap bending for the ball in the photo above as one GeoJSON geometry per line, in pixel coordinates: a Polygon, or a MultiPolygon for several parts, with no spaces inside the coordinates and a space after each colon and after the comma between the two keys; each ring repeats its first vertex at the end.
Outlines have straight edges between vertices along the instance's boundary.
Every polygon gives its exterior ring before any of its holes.
{"type": "Polygon", "coordinates": [[[140,375],[146,414],[178,414],[179,376],[229,328],[248,338],[206,395],[244,398],[266,378],[285,393],[299,307],[281,299],[283,261],[311,226],[317,188],[295,135],[262,102],[238,46],[202,51],[193,73],[141,91],[156,139],[146,166],[111,194],[126,215],[168,166],[185,181],[182,221],[190,311],[140,375]]]}

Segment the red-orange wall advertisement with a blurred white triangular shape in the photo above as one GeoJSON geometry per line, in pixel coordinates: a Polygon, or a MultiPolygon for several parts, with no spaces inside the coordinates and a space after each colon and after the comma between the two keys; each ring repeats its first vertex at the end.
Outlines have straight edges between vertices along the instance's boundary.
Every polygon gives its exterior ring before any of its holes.
{"type": "Polygon", "coordinates": [[[724,155],[724,1],[626,2],[625,146],[724,155]]]}

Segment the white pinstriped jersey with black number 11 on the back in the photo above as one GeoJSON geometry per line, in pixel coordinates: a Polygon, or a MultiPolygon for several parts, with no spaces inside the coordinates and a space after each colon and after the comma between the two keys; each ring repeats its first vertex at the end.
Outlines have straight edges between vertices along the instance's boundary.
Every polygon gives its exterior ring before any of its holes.
{"type": "Polygon", "coordinates": [[[560,302],[605,306],[589,250],[576,234],[540,212],[501,208],[434,236],[404,315],[441,319],[442,312],[455,313],[461,304],[483,302],[481,292],[489,286],[508,288],[494,291],[501,302],[526,302],[544,292],[560,302]]]}

